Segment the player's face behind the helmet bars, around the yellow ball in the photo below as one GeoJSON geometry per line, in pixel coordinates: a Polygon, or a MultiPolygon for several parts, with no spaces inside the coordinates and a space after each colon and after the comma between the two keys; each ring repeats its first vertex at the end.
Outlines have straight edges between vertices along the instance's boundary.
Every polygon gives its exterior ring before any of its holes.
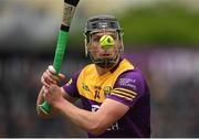
{"type": "Polygon", "coordinates": [[[88,51],[94,58],[114,58],[119,54],[119,39],[118,33],[115,31],[97,32],[91,35],[91,42],[88,44],[88,51]],[[111,35],[114,39],[115,45],[111,49],[103,49],[100,44],[100,40],[103,35],[111,35]]]}

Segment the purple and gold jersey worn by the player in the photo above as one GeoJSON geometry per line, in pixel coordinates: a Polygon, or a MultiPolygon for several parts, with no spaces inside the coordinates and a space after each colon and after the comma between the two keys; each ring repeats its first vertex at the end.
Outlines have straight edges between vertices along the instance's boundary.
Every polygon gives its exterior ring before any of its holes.
{"type": "Polygon", "coordinates": [[[126,58],[102,76],[94,64],[87,65],[63,88],[70,96],[81,98],[90,111],[96,111],[106,98],[129,106],[125,116],[98,137],[150,137],[149,90],[142,73],[126,58]]]}

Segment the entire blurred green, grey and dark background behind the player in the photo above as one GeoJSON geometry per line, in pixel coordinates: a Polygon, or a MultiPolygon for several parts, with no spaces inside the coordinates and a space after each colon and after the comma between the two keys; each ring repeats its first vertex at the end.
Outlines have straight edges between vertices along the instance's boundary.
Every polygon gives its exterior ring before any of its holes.
{"type": "MultiPolygon", "coordinates": [[[[35,111],[62,6],[63,0],[0,0],[0,137],[86,137],[62,116],[43,120],[35,111]]],[[[199,137],[199,0],[81,0],[62,66],[64,82],[90,63],[83,29],[96,14],[118,18],[125,53],[147,78],[151,137],[199,137]]]]}

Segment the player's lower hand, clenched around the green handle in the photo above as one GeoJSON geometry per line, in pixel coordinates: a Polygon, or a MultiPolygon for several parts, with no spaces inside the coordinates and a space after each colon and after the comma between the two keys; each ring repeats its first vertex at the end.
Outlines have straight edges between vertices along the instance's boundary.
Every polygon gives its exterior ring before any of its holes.
{"type": "Polygon", "coordinates": [[[53,107],[64,100],[61,87],[57,85],[50,85],[50,87],[43,94],[44,99],[53,107]]]}

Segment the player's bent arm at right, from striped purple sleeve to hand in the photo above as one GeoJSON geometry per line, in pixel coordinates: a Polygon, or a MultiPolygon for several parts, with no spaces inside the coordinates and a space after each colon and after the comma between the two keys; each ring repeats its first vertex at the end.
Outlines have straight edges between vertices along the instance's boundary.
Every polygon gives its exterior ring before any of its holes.
{"type": "Polygon", "coordinates": [[[144,94],[144,83],[139,74],[125,73],[117,79],[114,89],[97,111],[80,109],[64,100],[57,86],[51,86],[45,99],[65,117],[93,135],[104,132],[121,119],[144,94]]]}

